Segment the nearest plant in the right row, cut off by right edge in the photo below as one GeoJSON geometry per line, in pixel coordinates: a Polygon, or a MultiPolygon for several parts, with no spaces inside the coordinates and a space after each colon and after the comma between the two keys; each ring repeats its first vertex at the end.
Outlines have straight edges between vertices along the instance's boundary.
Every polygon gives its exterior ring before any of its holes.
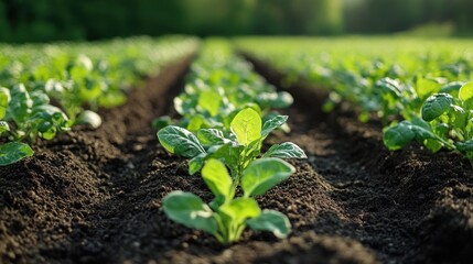
{"type": "Polygon", "coordinates": [[[417,140],[432,152],[456,150],[473,165],[473,82],[434,94],[423,103],[421,117],[387,128],[384,142],[399,150],[417,140]]]}

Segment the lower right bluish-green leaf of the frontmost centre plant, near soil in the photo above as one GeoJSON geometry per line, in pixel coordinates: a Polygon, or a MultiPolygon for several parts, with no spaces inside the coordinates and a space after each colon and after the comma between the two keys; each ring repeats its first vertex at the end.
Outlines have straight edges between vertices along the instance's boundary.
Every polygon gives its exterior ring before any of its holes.
{"type": "Polygon", "coordinates": [[[286,239],[291,232],[288,217],[275,210],[262,210],[257,218],[246,220],[252,230],[270,231],[278,239],[286,239]]]}

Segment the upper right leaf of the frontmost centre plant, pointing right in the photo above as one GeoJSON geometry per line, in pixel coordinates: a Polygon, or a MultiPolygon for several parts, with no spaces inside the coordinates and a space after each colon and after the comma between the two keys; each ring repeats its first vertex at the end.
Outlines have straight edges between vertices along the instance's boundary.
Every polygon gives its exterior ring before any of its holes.
{"type": "Polygon", "coordinates": [[[289,163],[265,157],[251,162],[243,172],[241,187],[246,197],[264,195],[295,172],[289,163]]]}

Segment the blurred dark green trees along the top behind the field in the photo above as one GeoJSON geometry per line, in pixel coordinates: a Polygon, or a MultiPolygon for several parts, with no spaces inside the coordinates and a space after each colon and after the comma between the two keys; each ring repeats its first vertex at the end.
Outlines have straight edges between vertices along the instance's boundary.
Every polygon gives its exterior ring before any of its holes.
{"type": "Polygon", "coordinates": [[[471,35],[473,0],[0,0],[1,42],[168,33],[471,35]]]}

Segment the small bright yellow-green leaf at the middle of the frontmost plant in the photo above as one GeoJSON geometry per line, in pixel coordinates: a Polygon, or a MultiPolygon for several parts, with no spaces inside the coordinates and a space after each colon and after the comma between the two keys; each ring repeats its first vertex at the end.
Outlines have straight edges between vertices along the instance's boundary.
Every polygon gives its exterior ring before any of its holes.
{"type": "Polygon", "coordinates": [[[258,204],[252,198],[236,198],[223,205],[219,212],[232,219],[234,223],[244,223],[248,218],[256,218],[261,213],[258,204]]]}

